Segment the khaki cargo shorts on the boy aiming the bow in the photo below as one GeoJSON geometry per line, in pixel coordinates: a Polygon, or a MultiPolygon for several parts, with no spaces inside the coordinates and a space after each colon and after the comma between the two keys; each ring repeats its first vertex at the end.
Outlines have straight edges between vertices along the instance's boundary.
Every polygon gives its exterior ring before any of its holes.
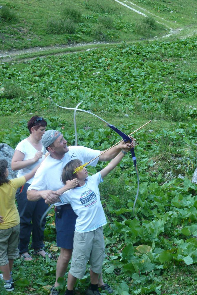
{"type": "Polygon", "coordinates": [[[91,269],[101,273],[102,262],[105,258],[105,243],[103,228],[91,232],[74,233],[74,250],[71,261],[70,273],[76,278],[83,278],[89,260],[91,269]]]}

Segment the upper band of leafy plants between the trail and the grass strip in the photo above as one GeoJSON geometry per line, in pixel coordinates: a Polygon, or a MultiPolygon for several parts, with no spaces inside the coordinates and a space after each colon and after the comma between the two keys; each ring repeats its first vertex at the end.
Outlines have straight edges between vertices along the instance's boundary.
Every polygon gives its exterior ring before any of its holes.
{"type": "Polygon", "coordinates": [[[89,109],[184,121],[196,116],[195,59],[193,37],[37,58],[20,70],[3,64],[0,112],[29,112],[38,105],[45,109],[51,107],[51,96],[63,105],[83,100],[89,109]],[[22,95],[10,93],[16,87],[22,95]]]}

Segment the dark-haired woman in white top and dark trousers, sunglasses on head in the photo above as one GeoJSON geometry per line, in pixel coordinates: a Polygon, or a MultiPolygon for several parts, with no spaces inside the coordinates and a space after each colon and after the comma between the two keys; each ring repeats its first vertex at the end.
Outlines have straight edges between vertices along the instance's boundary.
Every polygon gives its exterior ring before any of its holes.
{"type": "MultiPolygon", "coordinates": [[[[33,116],[27,123],[30,136],[19,142],[14,156],[12,158],[12,170],[19,170],[17,177],[29,173],[36,165],[41,163],[45,156],[43,155],[42,136],[45,133],[47,122],[39,116],[33,116]]],[[[17,191],[16,198],[18,211],[20,215],[20,235],[19,251],[20,257],[24,260],[32,260],[28,253],[28,246],[32,233],[31,248],[35,253],[45,257],[47,254],[43,249],[43,231],[40,230],[39,221],[48,205],[44,200],[41,202],[30,202],[27,200],[27,189],[32,183],[33,178],[20,187],[17,191]],[[42,204],[41,204],[42,203],[42,204]]],[[[45,221],[42,228],[44,229],[45,221]]]]}

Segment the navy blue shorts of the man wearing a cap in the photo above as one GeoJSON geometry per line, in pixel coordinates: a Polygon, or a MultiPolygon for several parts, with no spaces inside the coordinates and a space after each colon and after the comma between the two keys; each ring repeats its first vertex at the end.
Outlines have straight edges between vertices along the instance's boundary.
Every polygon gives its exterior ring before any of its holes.
{"type": "Polygon", "coordinates": [[[56,241],[57,246],[65,249],[73,249],[73,239],[77,215],[71,205],[61,206],[61,218],[56,214],[56,241]]]}

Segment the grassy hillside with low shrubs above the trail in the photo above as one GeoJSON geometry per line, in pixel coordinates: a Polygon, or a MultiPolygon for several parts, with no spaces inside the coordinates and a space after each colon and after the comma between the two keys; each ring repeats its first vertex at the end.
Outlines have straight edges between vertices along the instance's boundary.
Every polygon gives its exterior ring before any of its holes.
{"type": "MultiPolygon", "coordinates": [[[[184,2],[180,9],[176,9],[178,1],[173,1],[174,13],[170,13],[171,8],[168,6],[168,9],[162,11],[159,10],[159,6],[155,8],[155,4],[149,4],[149,2],[158,1],[144,2],[136,1],[140,6],[149,5],[150,12],[141,12],[155,19],[154,26],[144,25],[144,15],[114,0],[74,0],[72,7],[80,12],[81,17],[72,25],[70,20],[69,24],[66,20],[66,29],[64,8],[70,5],[67,0],[62,2],[1,0],[1,5],[7,7],[11,14],[14,14],[14,18],[0,18],[0,50],[65,45],[74,42],[133,41],[143,37],[159,37],[170,28],[179,28],[180,24],[191,27],[196,25],[196,17],[193,15],[194,4],[191,0],[184,2]],[[186,8],[187,23],[185,24],[183,19],[186,8]],[[162,13],[165,14],[163,19],[160,18],[162,13]],[[72,30],[70,30],[71,27],[72,30]]],[[[131,2],[126,1],[126,4],[131,5],[131,2]]],[[[71,13],[66,18],[72,18],[71,13]]]]}

